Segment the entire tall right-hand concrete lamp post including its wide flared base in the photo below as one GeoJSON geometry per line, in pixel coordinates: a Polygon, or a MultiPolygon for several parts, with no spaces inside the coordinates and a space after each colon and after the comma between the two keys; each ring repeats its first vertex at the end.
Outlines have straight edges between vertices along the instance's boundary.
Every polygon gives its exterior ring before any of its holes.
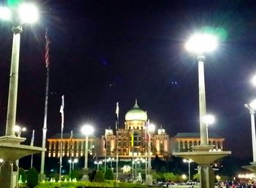
{"type": "Polygon", "coordinates": [[[200,146],[192,146],[193,152],[173,152],[173,154],[197,162],[200,187],[214,188],[214,171],[211,168],[211,163],[231,154],[231,152],[211,152],[214,146],[208,144],[208,122],[204,120],[207,117],[204,76],[204,60],[206,58],[204,53],[211,52],[217,47],[217,38],[209,34],[195,34],[189,38],[185,47],[189,52],[197,55],[198,61],[200,146]]]}

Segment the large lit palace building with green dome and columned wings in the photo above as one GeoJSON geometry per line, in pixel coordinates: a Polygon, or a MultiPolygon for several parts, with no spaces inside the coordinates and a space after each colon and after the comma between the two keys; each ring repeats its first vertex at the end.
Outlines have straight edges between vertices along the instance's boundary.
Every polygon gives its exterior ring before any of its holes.
{"type": "MultiPolygon", "coordinates": [[[[199,133],[177,133],[170,138],[162,126],[154,133],[148,133],[148,116],[135,101],[135,106],[125,114],[125,122],[119,125],[118,136],[116,130],[105,130],[101,138],[89,136],[89,154],[100,157],[118,157],[120,160],[131,160],[132,157],[148,156],[148,141],[150,138],[151,157],[158,155],[165,158],[173,152],[192,152],[193,146],[200,145],[199,133]],[[118,142],[117,142],[118,139],[118,142]],[[116,144],[118,143],[117,147],[116,144]]],[[[60,134],[48,138],[48,157],[60,157],[60,134]]],[[[224,138],[209,134],[209,144],[215,149],[223,150],[224,138]]],[[[63,135],[63,156],[83,157],[86,138],[81,133],[63,135]]]]}

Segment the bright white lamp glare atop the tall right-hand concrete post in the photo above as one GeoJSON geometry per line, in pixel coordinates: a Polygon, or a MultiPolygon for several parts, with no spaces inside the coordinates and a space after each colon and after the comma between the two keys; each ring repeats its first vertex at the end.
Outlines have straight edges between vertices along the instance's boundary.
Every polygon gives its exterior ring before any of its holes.
{"type": "Polygon", "coordinates": [[[195,34],[185,45],[189,52],[211,52],[217,47],[217,38],[209,34],[195,34]]]}

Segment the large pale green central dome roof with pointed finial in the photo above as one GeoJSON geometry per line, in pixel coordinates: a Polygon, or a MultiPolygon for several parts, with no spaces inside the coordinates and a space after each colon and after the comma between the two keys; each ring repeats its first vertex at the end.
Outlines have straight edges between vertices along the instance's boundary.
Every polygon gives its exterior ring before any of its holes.
{"type": "Polygon", "coordinates": [[[131,120],[146,121],[147,119],[148,119],[148,116],[146,114],[146,111],[143,111],[142,109],[140,109],[140,107],[137,104],[137,100],[135,101],[135,106],[133,106],[133,108],[127,111],[127,114],[125,114],[126,121],[131,121],[131,120]]]}

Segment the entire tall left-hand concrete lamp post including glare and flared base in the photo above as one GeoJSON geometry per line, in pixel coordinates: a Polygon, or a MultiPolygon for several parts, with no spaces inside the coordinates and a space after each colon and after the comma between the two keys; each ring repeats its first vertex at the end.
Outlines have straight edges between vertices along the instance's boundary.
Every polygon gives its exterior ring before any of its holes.
{"type": "Polygon", "coordinates": [[[20,144],[26,138],[15,136],[20,34],[23,31],[23,23],[34,23],[37,18],[37,8],[33,4],[15,4],[11,9],[0,7],[0,19],[12,22],[13,33],[7,122],[5,135],[0,137],[0,158],[4,160],[0,167],[0,179],[3,180],[1,181],[1,188],[17,187],[18,166],[15,165],[15,160],[29,154],[45,151],[39,147],[20,144]]]}

